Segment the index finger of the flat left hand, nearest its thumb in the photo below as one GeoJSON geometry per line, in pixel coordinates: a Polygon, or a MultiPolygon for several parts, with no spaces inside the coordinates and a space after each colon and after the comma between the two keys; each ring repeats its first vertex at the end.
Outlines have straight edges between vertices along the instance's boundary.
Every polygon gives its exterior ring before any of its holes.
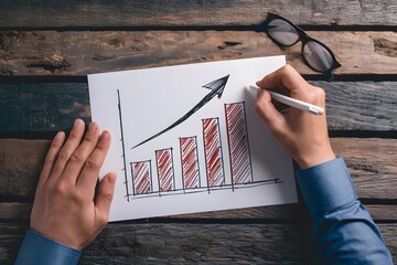
{"type": "MultiPolygon", "coordinates": [[[[82,173],[77,179],[77,186],[81,187],[83,190],[93,190],[96,184],[96,181],[99,176],[100,167],[103,166],[106,153],[109,150],[110,146],[110,134],[108,131],[104,131],[96,145],[92,155],[87,158],[82,173]]],[[[94,193],[93,193],[94,194],[94,193]]]]}

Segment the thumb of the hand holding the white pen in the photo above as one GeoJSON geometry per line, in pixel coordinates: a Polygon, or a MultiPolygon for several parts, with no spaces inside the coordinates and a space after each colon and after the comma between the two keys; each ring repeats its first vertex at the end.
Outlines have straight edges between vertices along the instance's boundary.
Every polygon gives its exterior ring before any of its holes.
{"type": "Polygon", "coordinates": [[[259,89],[255,108],[271,134],[279,135],[279,132],[283,130],[286,126],[286,119],[271,103],[269,92],[259,89]]]}

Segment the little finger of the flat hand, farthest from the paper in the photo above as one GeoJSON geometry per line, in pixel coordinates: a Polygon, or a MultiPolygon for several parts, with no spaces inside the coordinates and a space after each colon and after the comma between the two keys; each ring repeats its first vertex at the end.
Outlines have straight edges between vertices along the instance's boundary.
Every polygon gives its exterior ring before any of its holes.
{"type": "Polygon", "coordinates": [[[50,178],[51,171],[54,167],[56,161],[56,157],[58,156],[62,145],[65,141],[65,132],[58,131],[52,141],[49,152],[44,160],[43,169],[40,173],[39,186],[43,186],[46,180],[50,178]]]}

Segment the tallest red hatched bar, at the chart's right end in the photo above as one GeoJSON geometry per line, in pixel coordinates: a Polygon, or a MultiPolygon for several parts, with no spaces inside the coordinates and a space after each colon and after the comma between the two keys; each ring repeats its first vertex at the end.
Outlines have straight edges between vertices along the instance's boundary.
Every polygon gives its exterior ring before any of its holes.
{"type": "Polygon", "coordinates": [[[253,168],[244,103],[225,104],[232,183],[253,182],[253,168]]]}

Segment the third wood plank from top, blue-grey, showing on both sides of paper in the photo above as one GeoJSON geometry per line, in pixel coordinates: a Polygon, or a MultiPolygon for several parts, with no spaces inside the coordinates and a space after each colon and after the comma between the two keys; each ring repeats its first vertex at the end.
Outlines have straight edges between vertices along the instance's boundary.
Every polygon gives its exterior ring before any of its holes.
{"type": "MultiPolygon", "coordinates": [[[[332,130],[397,130],[397,82],[310,82],[326,92],[332,130]]],[[[87,84],[0,85],[0,130],[57,131],[90,120],[87,84]]]]}

